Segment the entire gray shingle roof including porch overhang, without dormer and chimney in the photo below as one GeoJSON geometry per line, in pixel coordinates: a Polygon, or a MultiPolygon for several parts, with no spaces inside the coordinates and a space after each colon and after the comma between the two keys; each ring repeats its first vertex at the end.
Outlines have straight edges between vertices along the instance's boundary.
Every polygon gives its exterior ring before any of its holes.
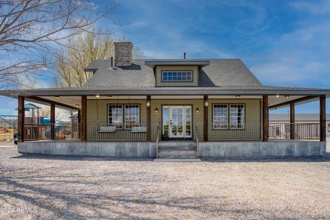
{"type": "Polygon", "coordinates": [[[94,94],[118,95],[261,95],[285,94],[311,96],[327,94],[330,89],[270,87],[262,85],[240,59],[199,60],[133,60],[129,67],[110,67],[109,60],[96,60],[88,65],[87,71],[95,72],[81,88],[45,88],[4,90],[0,95],[17,96],[80,96],[94,94]],[[209,61],[201,67],[199,87],[155,87],[155,74],[145,61],[209,61]]]}

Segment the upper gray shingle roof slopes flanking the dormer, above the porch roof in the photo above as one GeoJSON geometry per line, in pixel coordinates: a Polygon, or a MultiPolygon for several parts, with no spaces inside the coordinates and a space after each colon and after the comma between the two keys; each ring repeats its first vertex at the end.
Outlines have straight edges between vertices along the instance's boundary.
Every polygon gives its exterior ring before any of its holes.
{"type": "MultiPolygon", "coordinates": [[[[115,69],[110,68],[109,60],[94,61],[86,69],[94,70],[95,74],[84,85],[84,88],[155,87],[153,69],[146,66],[145,61],[150,60],[133,60],[131,67],[115,67],[115,69]]],[[[210,60],[210,65],[201,67],[199,87],[228,86],[261,87],[262,85],[240,59],[210,60]]]]}

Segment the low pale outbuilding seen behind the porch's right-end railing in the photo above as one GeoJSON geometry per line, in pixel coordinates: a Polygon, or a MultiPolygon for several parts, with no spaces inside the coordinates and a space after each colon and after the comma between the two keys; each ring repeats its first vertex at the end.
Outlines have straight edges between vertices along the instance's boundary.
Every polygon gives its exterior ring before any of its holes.
{"type": "MultiPolygon", "coordinates": [[[[296,136],[304,137],[311,132],[315,132],[315,136],[320,133],[320,115],[315,113],[297,113],[295,114],[295,122],[298,124],[296,128],[296,136]],[[315,127],[315,128],[314,128],[315,127]],[[313,130],[313,131],[311,131],[313,130]]],[[[330,114],[326,115],[327,137],[330,137],[330,114]]],[[[283,113],[270,114],[270,138],[289,139],[290,138],[290,115],[283,113]]]]}

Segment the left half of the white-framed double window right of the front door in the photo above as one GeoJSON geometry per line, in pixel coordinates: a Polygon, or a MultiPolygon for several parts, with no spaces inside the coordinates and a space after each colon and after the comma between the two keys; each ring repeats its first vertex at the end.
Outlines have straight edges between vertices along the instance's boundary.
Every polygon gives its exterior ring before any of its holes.
{"type": "Polygon", "coordinates": [[[213,104],[213,129],[228,129],[228,104],[213,104]]]}

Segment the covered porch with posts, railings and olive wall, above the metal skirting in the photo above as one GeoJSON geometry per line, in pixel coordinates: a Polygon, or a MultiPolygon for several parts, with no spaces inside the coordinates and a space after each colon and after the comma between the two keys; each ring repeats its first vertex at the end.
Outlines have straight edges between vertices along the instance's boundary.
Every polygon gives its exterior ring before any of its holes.
{"type": "MultiPolygon", "coordinates": [[[[285,100],[278,96],[19,96],[19,142],[36,140],[325,141],[325,96],[285,100]],[[111,97],[111,98],[109,98],[111,97]],[[295,104],[320,100],[320,122],[295,122],[295,104]],[[27,123],[25,100],[50,104],[50,123],[27,123]],[[60,100],[62,102],[60,102],[60,100]],[[63,102],[71,105],[63,104],[63,102]],[[79,103],[79,104],[76,104],[79,103]],[[289,105],[290,122],[269,122],[269,109],[289,105]],[[73,107],[74,106],[74,107],[73,107]],[[55,108],[76,111],[76,120],[56,122],[55,108]]],[[[285,98],[287,98],[285,96],[285,98]]]]}

